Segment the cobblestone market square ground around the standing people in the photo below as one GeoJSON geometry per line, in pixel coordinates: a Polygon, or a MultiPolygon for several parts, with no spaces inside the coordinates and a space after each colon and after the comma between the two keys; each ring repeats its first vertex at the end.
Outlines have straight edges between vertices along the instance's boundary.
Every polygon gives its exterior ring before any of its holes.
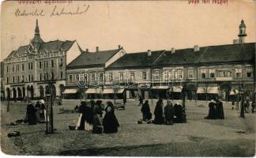
{"type": "MultiPolygon", "coordinates": [[[[65,100],[54,106],[55,134],[44,134],[45,124],[9,126],[24,119],[26,105],[12,103],[9,113],[1,104],[2,152],[8,155],[53,156],[254,156],[255,114],[239,118],[231,103],[224,103],[224,120],[204,119],[208,102],[186,103],[186,123],[173,126],[137,124],[141,111],[137,101],[128,100],[126,110],[115,111],[120,127],[117,134],[90,134],[69,130],[78,114],[58,114],[59,108],[73,109],[78,100],[65,100]],[[13,130],[20,137],[7,137],[13,130]]],[[[150,101],[151,103],[151,101],[150,101]]],[[[150,110],[153,112],[153,105],[150,110]]]]}

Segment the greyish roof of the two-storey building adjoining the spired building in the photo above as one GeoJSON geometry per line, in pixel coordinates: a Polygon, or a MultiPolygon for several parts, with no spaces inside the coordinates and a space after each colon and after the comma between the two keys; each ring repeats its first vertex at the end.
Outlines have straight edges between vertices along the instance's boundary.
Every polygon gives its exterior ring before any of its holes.
{"type": "Polygon", "coordinates": [[[87,52],[84,51],[75,58],[69,65],[66,66],[67,69],[72,68],[88,68],[94,66],[105,66],[105,63],[113,55],[119,52],[120,49],[108,50],[108,51],[97,51],[97,52],[87,52]]]}

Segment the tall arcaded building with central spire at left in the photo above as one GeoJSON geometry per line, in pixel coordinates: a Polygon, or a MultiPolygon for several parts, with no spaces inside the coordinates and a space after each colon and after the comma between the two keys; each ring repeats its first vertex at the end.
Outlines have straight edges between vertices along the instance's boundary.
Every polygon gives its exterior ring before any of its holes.
{"type": "Polygon", "coordinates": [[[6,97],[43,98],[50,93],[50,82],[53,96],[61,96],[66,85],[66,64],[78,55],[81,48],[76,40],[44,42],[36,20],[35,35],[30,43],[4,59],[6,97]]]}

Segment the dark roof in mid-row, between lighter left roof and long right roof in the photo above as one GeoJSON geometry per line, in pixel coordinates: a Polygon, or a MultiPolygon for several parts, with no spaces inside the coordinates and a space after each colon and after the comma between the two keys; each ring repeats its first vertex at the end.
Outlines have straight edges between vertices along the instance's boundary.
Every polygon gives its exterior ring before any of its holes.
{"type": "Polygon", "coordinates": [[[110,66],[107,67],[107,69],[152,66],[152,63],[156,61],[156,58],[158,58],[163,53],[164,50],[151,51],[151,56],[149,57],[148,52],[129,53],[113,62],[110,66]]]}

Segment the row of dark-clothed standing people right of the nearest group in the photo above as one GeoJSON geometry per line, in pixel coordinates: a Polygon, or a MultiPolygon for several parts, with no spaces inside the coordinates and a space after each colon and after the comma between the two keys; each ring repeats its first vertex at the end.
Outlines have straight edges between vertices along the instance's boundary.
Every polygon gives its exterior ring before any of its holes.
{"type": "MultiPolygon", "coordinates": [[[[148,100],[145,100],[145,103],[142,104],[141,112],[143,121],[149,122],[152,119],[148,100]]],[[[165,107],[163,100],[158,100],[154,110],[154,115],[155,119],[152,121],[154,124],[172,125],[174,122],[186,122],[185,109],[179,103],[175,103],[173,106],[171,100],[167,101],[167,105],[165,107]]]]}

